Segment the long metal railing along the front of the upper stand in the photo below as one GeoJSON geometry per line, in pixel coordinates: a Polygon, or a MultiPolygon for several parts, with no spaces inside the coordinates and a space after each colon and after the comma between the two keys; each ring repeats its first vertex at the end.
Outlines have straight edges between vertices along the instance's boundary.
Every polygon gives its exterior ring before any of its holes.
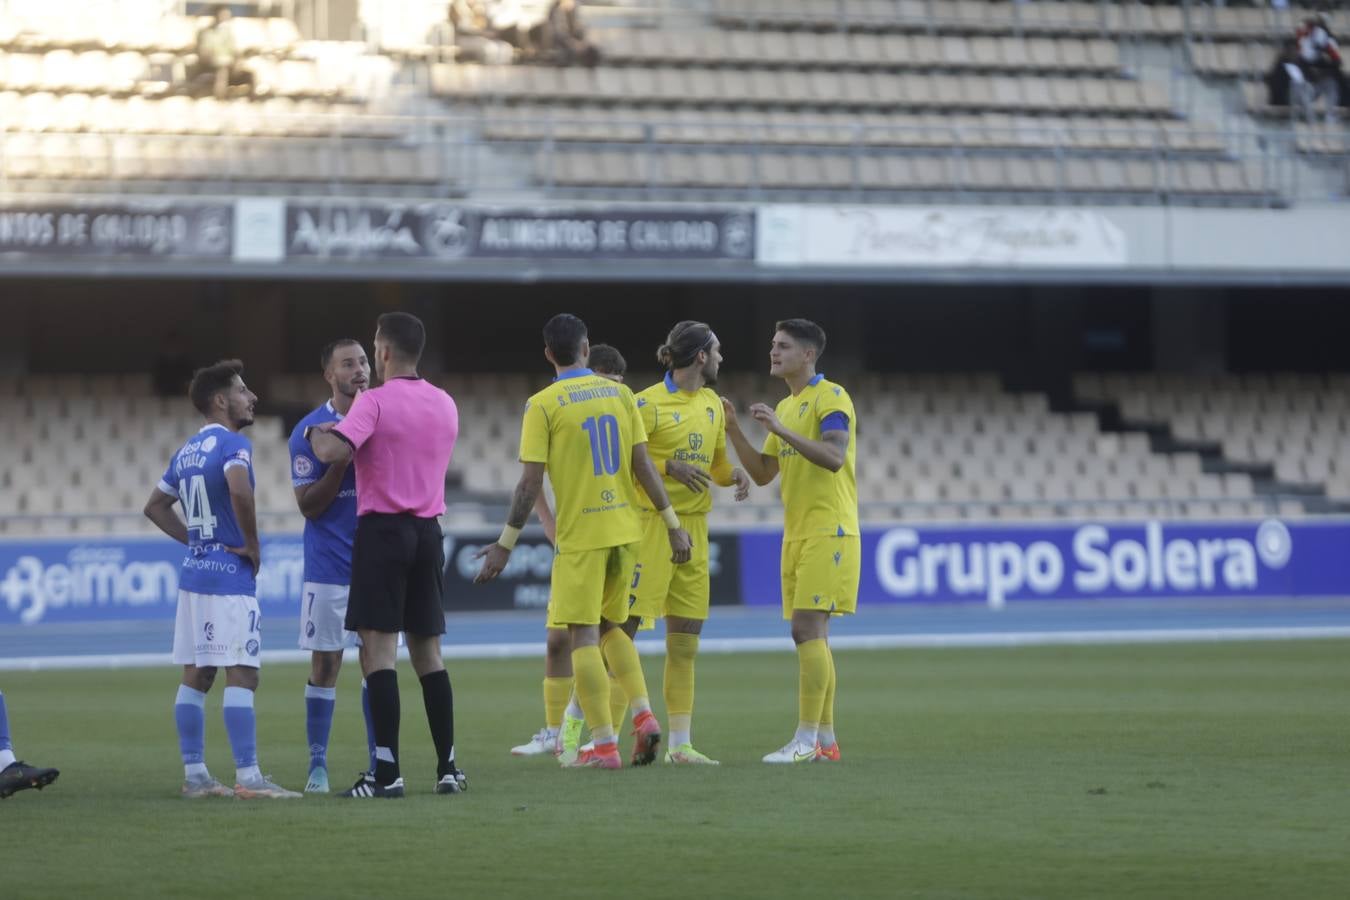
{"type": "Polygon", "coordinates": [[[285,138],[275,136],[285,128],[277,121],[269,135],[0,134],[0,192],[230,194],[282,186],[302,194],[485,200],[522,190],[859,201],[923,193],[957,202],[991,194],[1052,202],[1327,198],[1323,186],[1300,184],[1292,130],[1272,135],[1129,120],[1040,127],[1033,117],[1013,125],[864,124],[824,115],[729,121],[668,112],[601,120],[576,111],[522,121],[493,108],[373,119],[360,123],[360,132],[354,121],[306,116],[296,123],[297,135],[285,138]],[[325,127],[329,134],[319,136],[325,127]]]}

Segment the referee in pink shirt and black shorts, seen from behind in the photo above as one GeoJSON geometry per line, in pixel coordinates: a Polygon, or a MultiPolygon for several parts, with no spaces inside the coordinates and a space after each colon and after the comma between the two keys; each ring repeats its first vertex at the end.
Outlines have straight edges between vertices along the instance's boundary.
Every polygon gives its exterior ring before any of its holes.
{"type": "Polygon", "coordinates": [[[347,630],[360,634],[375,770],[344,797],[401,797],[398,769],[398,633],[408,637],[436,745],[436,793],[464,791],[455,765],[455,703],[440,656],[444,557],[437,517],[446,511],[446,467],[459,433],[450,394],[424,382],[417,363],[427,344],[421,320],[385,313],[375,329],[375,375],[340,422],[306,429],[323,463],[355,459],[356,540],[347,630]]]}

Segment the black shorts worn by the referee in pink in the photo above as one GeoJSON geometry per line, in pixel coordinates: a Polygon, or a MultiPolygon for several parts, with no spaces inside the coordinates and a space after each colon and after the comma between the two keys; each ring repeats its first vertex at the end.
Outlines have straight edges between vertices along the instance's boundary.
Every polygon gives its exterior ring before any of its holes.
{"type": "Polygon", "coordinates": [[[367,513],[356,519],[351,552],[348,631],[444,634],[440,604],[446,557],[440,522],[408,514],[367,513]]]}

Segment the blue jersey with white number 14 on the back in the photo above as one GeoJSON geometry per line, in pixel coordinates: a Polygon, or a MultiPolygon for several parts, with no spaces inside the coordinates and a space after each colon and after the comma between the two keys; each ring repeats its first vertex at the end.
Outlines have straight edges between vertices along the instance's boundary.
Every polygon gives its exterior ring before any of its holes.
{"type": "Polygon", "coordinates": [[[256,590],[248,560],[225,549],[244,544],[225,482],[225,471],[236,466],[244,467],[252,487],[252,444],[212,424],[173,455],[159,479],[159,490],[178,498],[188,519],[188,556],[178,576],[184,591],[252,596],[256,590]]]}

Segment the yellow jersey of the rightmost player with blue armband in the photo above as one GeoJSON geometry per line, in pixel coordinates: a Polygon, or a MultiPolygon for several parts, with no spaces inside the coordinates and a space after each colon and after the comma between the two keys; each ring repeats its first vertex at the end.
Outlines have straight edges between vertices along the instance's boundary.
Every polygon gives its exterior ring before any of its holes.
{"type": "Polygon", "coordinates": [[[848,453],[837,472],[806,460],[778,434],[764,440],[761,452],[778,457],[783,479],[783,540],[857,534],[857,416],[848,391],[817,375],[801,394],[779,401],[774,412],[790,430],[817,441],[830,413],[848,416],[848,453]]]}

